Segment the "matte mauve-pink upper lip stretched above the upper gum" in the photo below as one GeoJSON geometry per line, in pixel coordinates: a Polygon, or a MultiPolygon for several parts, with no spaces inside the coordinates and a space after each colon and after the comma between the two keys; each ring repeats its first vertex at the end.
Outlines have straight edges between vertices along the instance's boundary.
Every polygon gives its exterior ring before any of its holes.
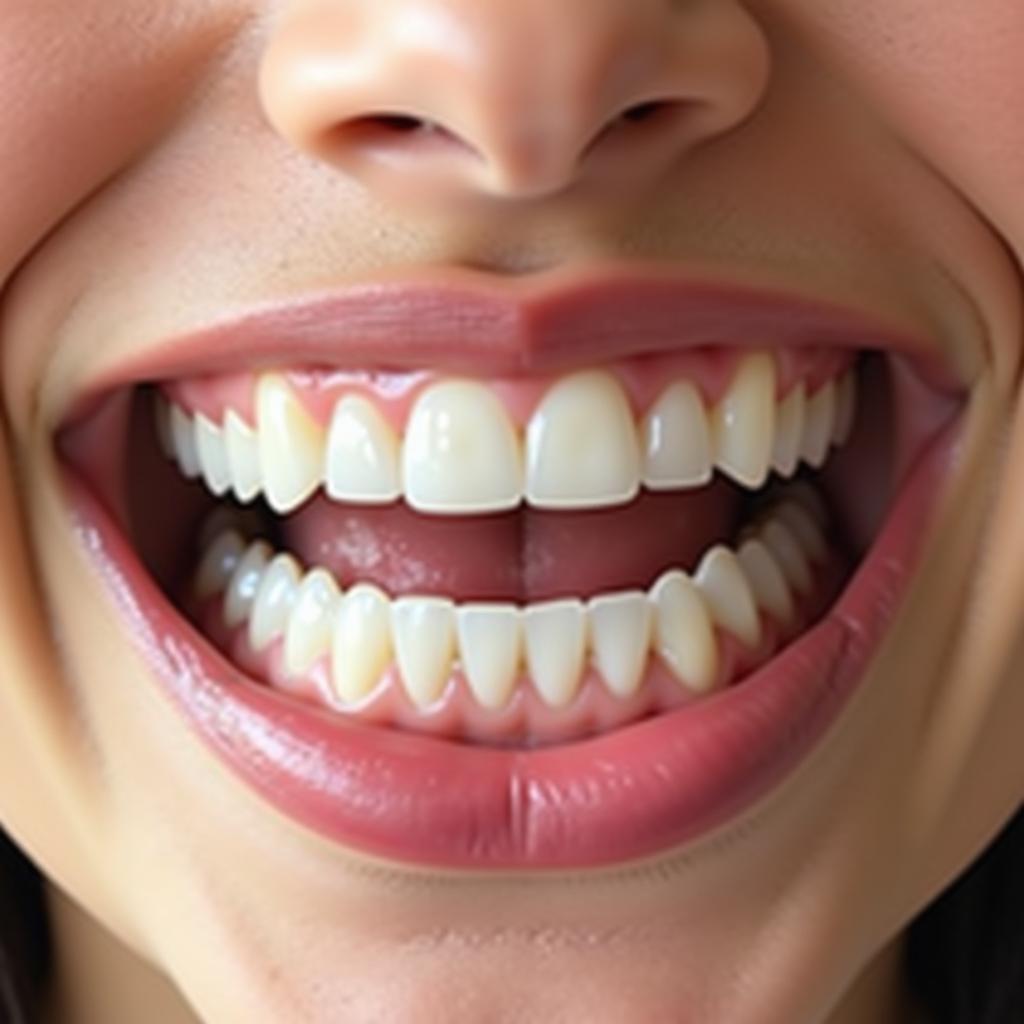
{"type": "Polygon", "coordinates": [[[956,385],[909,318],[671,264],[611,263],[519,279],[404,269],[258,304],[146,346],[89,390],[282,365],[508,377],[711,345],[886,349],[956,385]]]}

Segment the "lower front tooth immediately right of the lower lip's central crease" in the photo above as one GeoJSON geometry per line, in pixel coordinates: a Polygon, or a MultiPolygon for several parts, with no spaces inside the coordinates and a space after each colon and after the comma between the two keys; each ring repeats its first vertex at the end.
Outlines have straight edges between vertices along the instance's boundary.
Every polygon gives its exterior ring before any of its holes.
{"type": "Polygon", "coordinates": [[[587,649],[587,616],[582,601],[544,601],[523,613],[526,666],[534,686],[550,708],[575,696],[587,649]]]}

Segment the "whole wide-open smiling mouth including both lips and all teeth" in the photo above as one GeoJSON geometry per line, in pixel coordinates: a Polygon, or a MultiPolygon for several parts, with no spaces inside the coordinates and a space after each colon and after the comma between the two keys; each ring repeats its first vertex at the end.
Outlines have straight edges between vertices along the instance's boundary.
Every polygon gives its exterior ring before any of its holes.
{"type": "Polygon", "coordinates": [[[886,634],[952,375],[850,310],[598,285],[260,310],[58,432],[155,678],[327,839],[458,868],[665,852],[792,775],[886,634]]]}

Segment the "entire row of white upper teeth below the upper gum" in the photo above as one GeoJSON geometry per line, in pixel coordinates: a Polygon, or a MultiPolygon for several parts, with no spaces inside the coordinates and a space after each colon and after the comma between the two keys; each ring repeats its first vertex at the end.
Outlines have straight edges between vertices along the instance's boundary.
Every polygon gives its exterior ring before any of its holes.
{"type": "Polygon", "coordinates": [[[289,512],[322,485],[336,501],[403,498],[421,512],[593,508],[653,490],[699,486],[717,467],[749,487],[801,461],[819,467],[850,433],[854,372],[779,398],[775,359],[742,358],[711,410],[686,379],[669,383],[637,422],[618,379],[603,370],[555,381],[519,430],[479,381],[440,380],[417,397],[404,436],[362,394],[344,395],[327,427],[280,374],[256,384],[255,426],[233,410],[222,423],[158,401],[165,449],[186,476],[243,502],[265,496],[289,512]]]}

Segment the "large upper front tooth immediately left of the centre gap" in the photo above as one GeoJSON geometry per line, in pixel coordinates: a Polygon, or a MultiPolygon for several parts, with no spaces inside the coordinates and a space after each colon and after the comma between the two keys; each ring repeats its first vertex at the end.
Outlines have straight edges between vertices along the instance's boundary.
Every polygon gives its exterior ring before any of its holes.
{"type": "Polygon", "coordinates": [[[522,499],[522,456],[482,384],[442,381],[417,399],[402,445],[406,501],[421,512],[499,512],[522,499]]]}

